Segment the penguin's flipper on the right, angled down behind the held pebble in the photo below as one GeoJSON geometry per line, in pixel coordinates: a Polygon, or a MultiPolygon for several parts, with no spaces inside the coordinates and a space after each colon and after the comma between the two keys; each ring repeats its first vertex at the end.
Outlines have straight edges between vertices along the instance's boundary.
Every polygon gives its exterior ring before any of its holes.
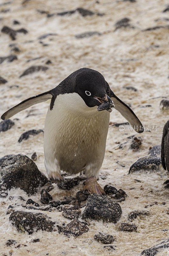
{"type": "Polygon", "coordinates": [[[129,106],[127,106],[122,100],[120,100],[114,94],[114,92],[111,91],[109,97],[114,102],[115,109],[117,109],[120,114],[130,123],[132,128],[138,133],[144,132],[144,127],[133,110],[129,108],[129,106]]]}

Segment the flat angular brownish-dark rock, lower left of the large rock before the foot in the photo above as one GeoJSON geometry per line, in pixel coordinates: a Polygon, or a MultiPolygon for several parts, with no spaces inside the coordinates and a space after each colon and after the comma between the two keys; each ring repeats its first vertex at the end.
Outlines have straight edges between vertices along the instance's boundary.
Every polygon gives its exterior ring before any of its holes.
{"type": "Polygon", "coordinates": [[[69,224],[62,228],[62,232],[66,236],[80,236],[83,233],[88,232],[88,230],[88,227],[77,219],[72,220],[69,224]]]}

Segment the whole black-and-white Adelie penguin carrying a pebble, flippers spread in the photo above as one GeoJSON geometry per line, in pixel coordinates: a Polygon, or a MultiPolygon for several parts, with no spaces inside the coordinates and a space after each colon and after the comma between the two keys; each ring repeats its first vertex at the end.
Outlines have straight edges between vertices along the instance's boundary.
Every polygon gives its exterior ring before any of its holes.
{"type": "Polygon", "coordinates": [[[62,180],[60,170],[69,173],[85,171],[83,189],[103,194],[96,179],[105,154],[111,108],[117,109],[136,132],[144,128],[114,92],[104,77],[90,68],[81,68],[54,89],[22,101],[5,112],[8,119],[30,106],[51,99],[45,120],[45,167],[52,182],[62,180]]]}

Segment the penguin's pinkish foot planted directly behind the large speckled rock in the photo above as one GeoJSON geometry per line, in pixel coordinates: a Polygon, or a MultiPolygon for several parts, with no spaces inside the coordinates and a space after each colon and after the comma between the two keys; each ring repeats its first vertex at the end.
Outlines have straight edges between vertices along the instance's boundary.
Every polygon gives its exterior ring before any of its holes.
{"type": "Polygon", "coordinates": [[[90,194],[98,194],[98,195],[105,195],[104,190],[101,186],[97,183],[96,178],[90,177],[87,178],[85,185],[83,186],[83,190],[88,190],[90,194]]]}

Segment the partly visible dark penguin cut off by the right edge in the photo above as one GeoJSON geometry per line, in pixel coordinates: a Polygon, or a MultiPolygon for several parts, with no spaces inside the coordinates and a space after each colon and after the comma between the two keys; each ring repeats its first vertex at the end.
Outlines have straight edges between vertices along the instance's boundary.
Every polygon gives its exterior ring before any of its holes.
{"type": "MultiPolygon", "coordinates": [[[[163,128],[163,135],[161,140],[161,162],[164,170],[169,172],[169,120],[163,128]]],[[[169,188],[169,180],[164,182],[165,188],[169,188]]]]}

